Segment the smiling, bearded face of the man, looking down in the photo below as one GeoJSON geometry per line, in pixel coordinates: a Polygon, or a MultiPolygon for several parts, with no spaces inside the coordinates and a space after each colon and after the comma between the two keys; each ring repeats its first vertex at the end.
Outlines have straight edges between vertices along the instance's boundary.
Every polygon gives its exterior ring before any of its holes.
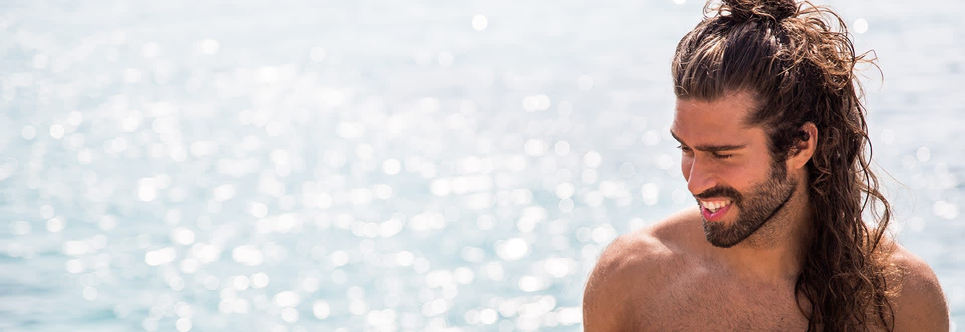
{"type": "Polygon", "coordinates": [[[742,123],[753,107],[746,94],[676,103],[671,133],[680,142],[680,169],[700,205],[703,233],[718,247],[757,232],[797,187],[786,164],[772,158],[764,131],[742,123]]]}

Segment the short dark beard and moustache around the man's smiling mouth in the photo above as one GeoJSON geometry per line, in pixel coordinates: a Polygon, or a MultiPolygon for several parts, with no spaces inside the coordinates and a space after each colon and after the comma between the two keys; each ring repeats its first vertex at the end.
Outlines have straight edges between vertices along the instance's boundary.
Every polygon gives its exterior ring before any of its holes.
{"type": "Polygon", "coordinates": [[[694,195],[695,198],[726,197],[731,200],[731,208],[737,208],[734,210],[737,215],[731,222],[709,222],[702,213],[703,235],[710,244],[730,248],[754,235],[784,208],[797,188],[797,182],[789,179],[783,167],[784,163],[772,163],[768,178],[752,186],[746,194],[729,186],[715,186],[694,195]]]}

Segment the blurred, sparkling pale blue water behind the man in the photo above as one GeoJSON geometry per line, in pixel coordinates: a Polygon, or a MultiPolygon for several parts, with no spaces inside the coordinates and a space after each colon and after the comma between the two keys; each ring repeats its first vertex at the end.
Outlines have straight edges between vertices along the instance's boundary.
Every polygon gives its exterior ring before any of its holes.
{"type": "MultiPolygon", "coordinates": [[[[829,1],[899,241],[965,324],[960,1],[829,1]]],[[[0,4],[0,330],[574,331],[617,235],[694,206],[703,1],[0,4]]]]}

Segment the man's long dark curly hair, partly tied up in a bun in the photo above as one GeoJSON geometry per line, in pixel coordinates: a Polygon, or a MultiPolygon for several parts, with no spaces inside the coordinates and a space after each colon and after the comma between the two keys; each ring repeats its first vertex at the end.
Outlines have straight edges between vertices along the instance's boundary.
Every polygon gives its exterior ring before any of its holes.
{"type": "Polygon", "coordinates": [[[676,97],[715,100],[749,92],[758,109],[745,123],[764,128],[776,161],[817,126],[807,165],[814,232],[797,277],[795,298],[809,331],[894,327],[887,280],[896,267],[885,237],[891,206],[870,170],[871,145],[855,67],[840,15],[809,1],[710,1],[704,18],[677,44],[676,97]],[[866,221],[866,217],[869,218],[866,221]]]}

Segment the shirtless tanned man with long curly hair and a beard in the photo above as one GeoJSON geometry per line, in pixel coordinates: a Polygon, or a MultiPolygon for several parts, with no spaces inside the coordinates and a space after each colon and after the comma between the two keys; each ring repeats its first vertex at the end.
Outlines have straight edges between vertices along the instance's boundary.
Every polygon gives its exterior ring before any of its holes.
{"type": "Polygon", "coordinates": [[[708,13],[672,67],[698,207],[613,241],[585,329],[949,331],[934,272],[886,234],[853,73],[867,61],[840,17],[794,0],[708,13]]]}

